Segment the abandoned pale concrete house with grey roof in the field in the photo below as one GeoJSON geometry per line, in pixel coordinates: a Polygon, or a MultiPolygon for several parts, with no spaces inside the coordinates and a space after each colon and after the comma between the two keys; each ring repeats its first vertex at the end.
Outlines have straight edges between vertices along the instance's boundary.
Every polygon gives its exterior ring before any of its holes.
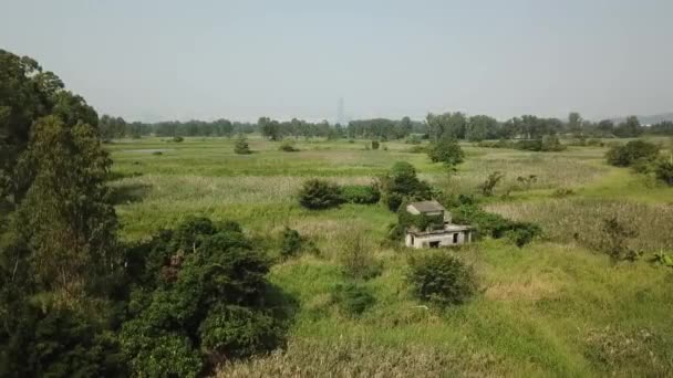
{"type": "Polygon", "coordinates": [[[469,225],[452,224],[451,213],[437,201],[413,202],[406,206],[406,212],[422,220],[406,229],[406,246],[439,248],[472,242],[469,225]]]}

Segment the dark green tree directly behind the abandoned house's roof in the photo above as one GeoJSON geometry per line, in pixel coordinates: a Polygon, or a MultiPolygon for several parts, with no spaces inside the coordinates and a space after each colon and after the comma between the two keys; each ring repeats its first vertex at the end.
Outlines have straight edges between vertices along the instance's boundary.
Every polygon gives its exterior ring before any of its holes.
{"type": "Polygon", "coordinates": [[[402,202],[431,199],[429,186],[418,180],[416,169],[406,161],[397,161],[387,175],[380,179],[382,200],[391,211],[397,211],[402,202]]]}

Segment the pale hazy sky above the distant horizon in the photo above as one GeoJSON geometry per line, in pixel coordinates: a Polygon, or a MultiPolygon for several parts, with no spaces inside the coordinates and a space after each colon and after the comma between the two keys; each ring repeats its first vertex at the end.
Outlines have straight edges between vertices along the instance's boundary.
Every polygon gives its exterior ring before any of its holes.
{"type": "Polygon", "coordinates": [[[672,0],[0,0],[0,49],[126,120],[673,112],[672,0]]]}

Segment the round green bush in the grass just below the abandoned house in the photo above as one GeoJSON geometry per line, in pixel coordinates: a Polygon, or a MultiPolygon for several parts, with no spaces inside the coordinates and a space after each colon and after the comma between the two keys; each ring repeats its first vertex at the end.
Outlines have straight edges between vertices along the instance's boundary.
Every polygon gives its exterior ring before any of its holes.
{"type": "Polygon", "coordinates": [[[407,281],[417,298],[439,306],[462,304],[477,291],[473,269],[443,251],[413,255],[407,281]]]}

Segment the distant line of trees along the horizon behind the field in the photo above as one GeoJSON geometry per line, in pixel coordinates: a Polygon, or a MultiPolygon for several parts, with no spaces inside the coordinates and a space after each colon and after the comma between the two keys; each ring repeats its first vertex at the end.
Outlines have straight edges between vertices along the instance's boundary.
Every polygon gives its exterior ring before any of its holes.
{"type": "Polygon", "coordinates": [[[428,114],[423,120],[410,117],[401,119],[372,118],[355,119],[348,125],[330,124],[327,120],[312,123],[292,118],[277,120],[260,117],[257,123],[241,123],[220,118],[216,120],[168,120],[157,123],[127,123],[122,117],[103,115],[96,123],[104,140],[142,136],[201,136],[232,137],[238,134],[259,133],[271,140],[293,138],[364,138],[392,140],[404,138],[428,138],[438,140],[443,137],[480,141],[487,139],[541,139],[549,135],[587,137],[633,138],[643,134],[673,135],[673,123],[662,122],[643,126],[636,116],[630,116],[615,124],[611,119],[591,122],[583,119],[579,113],[570,113],[568,118],[546,118],[535,115],[522,115],[500,122],[488,115],[468,116],[460,112],[428,114]]]}

